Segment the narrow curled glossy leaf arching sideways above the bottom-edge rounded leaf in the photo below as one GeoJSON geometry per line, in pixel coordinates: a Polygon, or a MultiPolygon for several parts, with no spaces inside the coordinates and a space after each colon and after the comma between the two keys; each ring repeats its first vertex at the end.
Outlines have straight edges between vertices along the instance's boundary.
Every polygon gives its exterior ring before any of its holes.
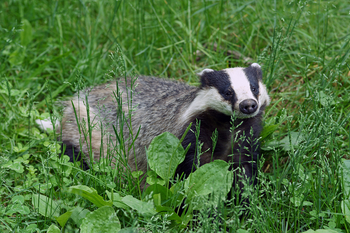
{"type": "Polygon", "coordinates": [[[97,191],[93,188],[89,188],[85,185],[76,185],[64,189],[65,192],[71,192],[88,199],[90,202],[95,204],[97,207],[112,206],[112,202],[106,202],[103,198],[97,194],[97,191]]]}

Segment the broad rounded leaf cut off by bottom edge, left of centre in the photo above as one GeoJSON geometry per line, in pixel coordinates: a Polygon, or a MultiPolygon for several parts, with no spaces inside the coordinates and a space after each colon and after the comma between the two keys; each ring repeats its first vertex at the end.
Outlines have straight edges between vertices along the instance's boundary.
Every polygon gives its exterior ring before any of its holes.
{"type": "Polygon", "coordinates": [[[80,225],[80,233],[115,233],[120,222],[111,206],[102,206],[92,211],[80,225]]]}

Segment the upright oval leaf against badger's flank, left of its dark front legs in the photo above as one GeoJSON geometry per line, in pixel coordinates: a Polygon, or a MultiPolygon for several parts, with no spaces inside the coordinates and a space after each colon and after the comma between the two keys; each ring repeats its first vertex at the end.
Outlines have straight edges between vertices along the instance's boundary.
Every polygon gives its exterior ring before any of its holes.
{"type": "Polygon", "coordinates": [[[185,151],[179,143],[180,140],[173,134],[164,132],[155,137],[148,147],[149,167],[165,181],[174,176],[177,165],[185,158],[185,151]]]}

